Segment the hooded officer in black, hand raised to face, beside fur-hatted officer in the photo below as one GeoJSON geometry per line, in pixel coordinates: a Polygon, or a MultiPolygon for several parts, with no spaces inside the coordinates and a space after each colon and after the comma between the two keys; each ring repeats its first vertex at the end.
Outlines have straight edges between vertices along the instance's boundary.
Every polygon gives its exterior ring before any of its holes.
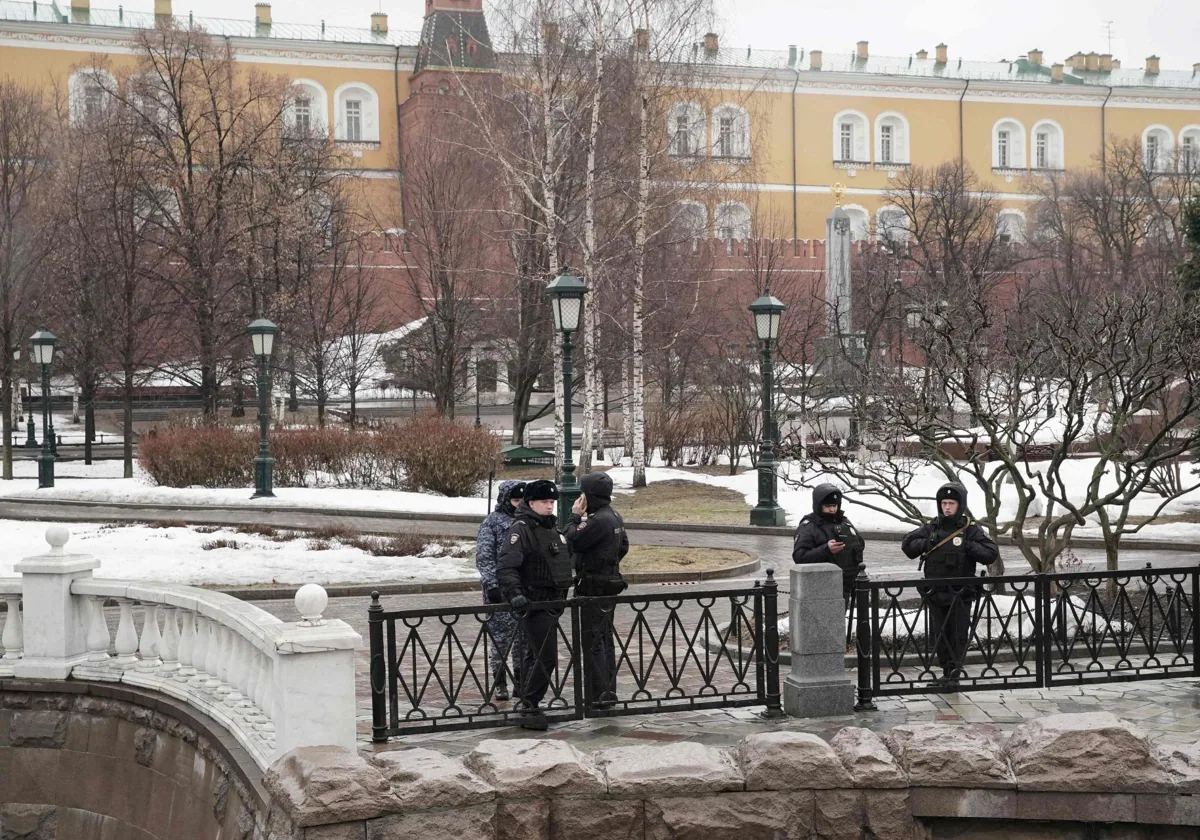
{"type": "MultiPolygon", "coordinates": [[[[588,473],[583,493],[571,508],[563,535],[575,556],[575,594],[584,598],[619,595],[629,586],[620,559],[629,553],[629,536],[620,514],[612,509],[612,479],[588,473]]],[[[598,709],[617,702],[617,654],[613,646],[613,601],[593,601],[583,608],[583,691],[598,709]]]]}

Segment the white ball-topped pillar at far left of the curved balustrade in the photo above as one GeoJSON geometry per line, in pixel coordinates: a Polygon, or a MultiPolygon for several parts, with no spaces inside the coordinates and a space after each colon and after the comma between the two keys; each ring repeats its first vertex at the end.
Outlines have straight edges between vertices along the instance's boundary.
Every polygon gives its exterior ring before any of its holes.
{"type": "Polygon", "coordinates": [[[50,551],[13,565],[22,576],[24,652],[13,674],[24,679],[66,679],[71,668],[88,659],[83,596],[71,594],[72,581],[91,577],[100,560],[67,554],[71,539],[64,526],[46,529],[50,551]]]}

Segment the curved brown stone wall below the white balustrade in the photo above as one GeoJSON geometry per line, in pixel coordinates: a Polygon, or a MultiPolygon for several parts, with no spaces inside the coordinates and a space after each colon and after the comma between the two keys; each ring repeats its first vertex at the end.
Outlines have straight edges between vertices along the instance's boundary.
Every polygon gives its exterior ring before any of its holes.
{"type": "MultiPolygon", "coordinates": [[[[0,680],[4,840],[257,840],[258,770],[193,709],[126,686],[0,680]]],[[[274,823],[290,833],[284,815],[274,823]]]]}

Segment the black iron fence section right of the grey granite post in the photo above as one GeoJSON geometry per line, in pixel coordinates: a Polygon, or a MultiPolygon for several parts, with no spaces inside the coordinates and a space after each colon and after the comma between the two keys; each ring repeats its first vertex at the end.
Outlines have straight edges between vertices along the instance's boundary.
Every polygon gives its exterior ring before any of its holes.
{"type": "Polygon", "coordinates": [[[854,593],[872,697],[1200,676],[1200,566],[870,581],[854,593]]]}

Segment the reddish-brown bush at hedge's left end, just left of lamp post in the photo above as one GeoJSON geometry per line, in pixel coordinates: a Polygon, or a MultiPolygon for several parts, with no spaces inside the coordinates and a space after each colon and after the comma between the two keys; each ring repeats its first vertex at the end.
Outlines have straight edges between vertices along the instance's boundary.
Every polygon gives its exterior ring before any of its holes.
{"type": "Polygon", "coordinates": [[[230,426],[169,426],[138,442],[138,462],[164,487],[248,487],[256,436],[230,426]]]}

